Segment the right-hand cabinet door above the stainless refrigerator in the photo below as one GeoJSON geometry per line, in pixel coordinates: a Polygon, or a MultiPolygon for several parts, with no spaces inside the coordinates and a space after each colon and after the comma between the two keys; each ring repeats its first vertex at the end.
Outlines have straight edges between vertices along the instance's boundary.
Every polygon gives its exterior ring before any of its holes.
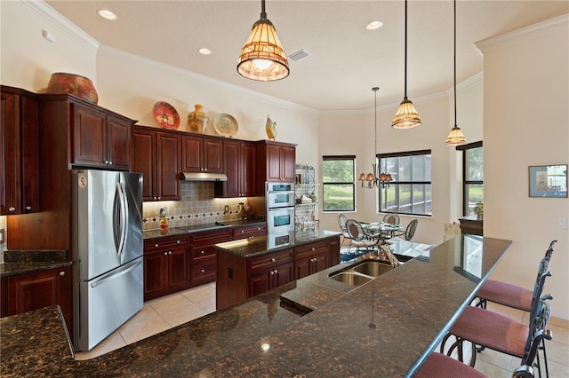
{"type": "Polygon", "coordinates": [[[107,117],[107,158],[113,169],[131,169],[131,122],[107,117]]]}

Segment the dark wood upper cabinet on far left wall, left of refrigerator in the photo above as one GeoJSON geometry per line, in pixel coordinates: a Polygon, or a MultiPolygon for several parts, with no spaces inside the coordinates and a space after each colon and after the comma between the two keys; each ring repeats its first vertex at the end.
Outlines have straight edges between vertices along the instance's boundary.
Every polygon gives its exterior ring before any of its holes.
{"type": "Polygon", "coordinates": [[[2,86],[0,216],[40,211],[36,95],[2,86]]]}

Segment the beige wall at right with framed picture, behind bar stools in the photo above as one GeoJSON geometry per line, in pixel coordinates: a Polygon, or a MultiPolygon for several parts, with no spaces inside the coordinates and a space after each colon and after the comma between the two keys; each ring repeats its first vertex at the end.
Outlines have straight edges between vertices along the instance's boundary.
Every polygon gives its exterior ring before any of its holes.
{"type": "Polygon", "coordinates": [[[569,200],[528,197],[528,166],[569,162],[569,16],[478,43],[484,53],[485,236],[513,240],[493,278],[533,287],[557,239],[553,314],[569,319],[569,200]]]}

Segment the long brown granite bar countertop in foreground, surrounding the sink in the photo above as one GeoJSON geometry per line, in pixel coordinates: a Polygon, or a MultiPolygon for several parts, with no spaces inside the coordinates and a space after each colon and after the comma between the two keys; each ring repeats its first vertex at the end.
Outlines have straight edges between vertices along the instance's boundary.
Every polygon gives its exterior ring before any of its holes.
{"type": "Polygon", "coordinates": [[[86,361],[70,358],[65,327],[53,317],[57,308],[15,315],[0,320],[0,371],[3,376],[411,376],[510,244],[458,235],[359,287],[328,279],[345,267],[333,266],[86,361]],[[297,300],[304,303],[299,311],[291,305],[297,300]],[[45,332],[36,334],[35,324],[43,324],[45,332]]]}

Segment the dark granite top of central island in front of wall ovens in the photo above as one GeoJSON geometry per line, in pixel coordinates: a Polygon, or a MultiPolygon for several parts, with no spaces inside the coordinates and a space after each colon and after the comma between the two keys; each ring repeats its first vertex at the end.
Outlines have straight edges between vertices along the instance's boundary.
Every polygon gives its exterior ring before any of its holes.
{"type": "Polygon", "coordinates": [[[274,238],[270,238],[269,236],[259,236],[253,239],[227,241],[225,243],[216,244],[215,248],[222,249],[223,251],[236,256],[253,257],[298,247],[318,240],[335,238],[339,235],[341,235],[340,232],[326,230],[298,231],[285,234],[284,236],[287,236],[288,239],[286,242],[279,245],[273,245],[274,238]]]}

